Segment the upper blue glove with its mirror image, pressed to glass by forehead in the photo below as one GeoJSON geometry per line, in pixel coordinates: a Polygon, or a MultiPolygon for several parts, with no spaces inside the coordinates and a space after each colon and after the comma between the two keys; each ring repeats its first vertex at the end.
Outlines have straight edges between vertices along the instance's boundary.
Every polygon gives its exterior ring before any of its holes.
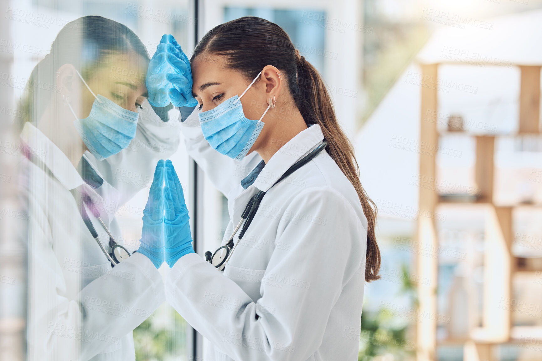
{"type": "Polygon", "coordinates": [[[194,107],[190,62],[173,35],[163,35],[151,58],[145,80],[149,103],[165,107],[194,107]]]}

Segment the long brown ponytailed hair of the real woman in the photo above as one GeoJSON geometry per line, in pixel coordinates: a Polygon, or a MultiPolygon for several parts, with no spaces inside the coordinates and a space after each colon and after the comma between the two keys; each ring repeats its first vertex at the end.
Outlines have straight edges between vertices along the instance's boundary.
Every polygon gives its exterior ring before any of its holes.
{"type": "Polygon", "coordinates": [[[379,279],[380,250],[376,242],[376,205],[359,181],[359,166],[352,143],[337,122],[326,85],[318,71],[295,49],[279,25],[253,16],[241,17],[211,29],[198,42],[191,62],[201,54],[225,56],[228,67],[253,79],[266,65],[274,65],[288,81],[305,123],[319,124],[327,140],[327,153],[350,180],[367,219],[365,281],[379,279]]]}

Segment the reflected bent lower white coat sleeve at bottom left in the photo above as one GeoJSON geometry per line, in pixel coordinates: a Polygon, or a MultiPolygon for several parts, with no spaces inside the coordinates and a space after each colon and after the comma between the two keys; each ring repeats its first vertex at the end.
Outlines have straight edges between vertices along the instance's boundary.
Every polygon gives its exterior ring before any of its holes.
{"type": "MultiPolygon", "coordinates": [[[[143,254],[115,266],[74,297],[62,296],[66,278],[84,277],[98,268],[70,269],[51,247],[46,219],[30,222],[29,359],[86,361],[119,345],[165,300],[164,284],[143,254]],[[80,273],[79,273],[80,272],[80,273]]],[[[38,218],[39,217],[39,218],[38,218]]]]}

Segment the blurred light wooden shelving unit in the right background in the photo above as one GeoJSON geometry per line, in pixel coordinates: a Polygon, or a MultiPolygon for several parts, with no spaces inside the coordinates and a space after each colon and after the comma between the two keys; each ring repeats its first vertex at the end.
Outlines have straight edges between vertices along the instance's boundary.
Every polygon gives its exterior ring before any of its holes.
{"type": "MultiPolygon", "coordinates": [[[[437,79],[440,63],[420,64],[422,69],[420,142],[438,147],[439,135],[435,111],[438,109],[437,79]],[[431,111],[427,111],[430,109],[431,111]]],[[[520,65],[521,86],[519,106],[519,135],[538,135],[540,117],[540,66],[520,65]]],[[[494,153],[495,136],[476,136],[475,180],[481,194],[473,202],[462,205],[480,204],[486,208],[486,247],[484,253],[485,275],[483,279],[482,327],[470,330],[469,337],[460,340],[446,340],[441,344],[463,344],[465,361],[494,361],[494,346],[501,343],[522,343],[540,340],[542,327],[513,326],[511,307],[499,307],[502,299],[511,299],[512,279],[516,272],[542,272],[542,258],[525,259],[513,257],[511,252],[513,231],[512,212],[514,207],[494,204],[494,153]],[[530,338],[528,338],[530,337],[530,338]]],[[[420,175],[436,179],[436,156],[420,154],[420,175]]],[[[441,204],[450,203],[436,190],[420,188],[420,213],[433,214],[441,204]]],[[[417,220],[418,241],[438,249],[435,220],[419,216],[417,220]]],[[[436,254],[435,254],[436,255],[436,254]]],[[[415,272],[431,279],[437,279],[438,257],[416,257],[415,272]]],[[[437,286],[418,285],[420,310],[437,313],[437,286]]],[[[542,304],[542,301],[541,301],[542,304]]],[[[424,318],[416,325],[418,361],[437,359],[436,319],[424,318]]],[[[541,354],[542,356],[542,354],[541,354]]]]}

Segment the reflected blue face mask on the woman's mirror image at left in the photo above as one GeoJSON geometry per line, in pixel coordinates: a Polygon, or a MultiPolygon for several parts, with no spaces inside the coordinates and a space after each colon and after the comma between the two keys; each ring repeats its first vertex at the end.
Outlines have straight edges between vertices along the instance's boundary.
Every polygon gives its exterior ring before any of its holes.
{"type": "Polygon", "coordinates": [[[91,114],[84,119],[79,119],[75,115],[69,103],[68,107],[75,116],[75,128],[89,152],[96,159],[102,160],[130,145],[135,136],[139,113],[124,109],[100,94],[96,96],[79,71],[77,74],[96,99],[92,104],[91,114]]]}

